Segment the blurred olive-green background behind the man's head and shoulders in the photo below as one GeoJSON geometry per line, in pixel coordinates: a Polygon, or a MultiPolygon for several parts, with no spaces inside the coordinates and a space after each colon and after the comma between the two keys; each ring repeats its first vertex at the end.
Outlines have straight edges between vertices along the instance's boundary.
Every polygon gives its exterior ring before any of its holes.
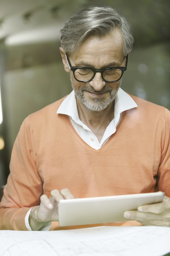
{"type": "Polygon", "coordinates": [[[170,109],[169,3],[0,0],[0,186],[23,119],[71,92],[58,49],[60,29],[82,7],[109,5],[131,23],[135,42],[122,89],[170,109]]]}

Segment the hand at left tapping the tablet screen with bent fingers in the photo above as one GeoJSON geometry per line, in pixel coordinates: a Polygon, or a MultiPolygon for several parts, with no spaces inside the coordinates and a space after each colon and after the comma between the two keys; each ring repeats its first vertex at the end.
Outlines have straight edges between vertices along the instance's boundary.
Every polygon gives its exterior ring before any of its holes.
{"type": "Polygon", "coordinates": [[[50,197],[42,195],[40,197],[40,205],[32,208],[29,215],[29,225],[32,230],[40,230],[43,226],[47,226],[48,222],[58,221],[58,202],[61,199],[72,199],[74,196],[67,188],[58,191],[52,190],[50,197]]]}

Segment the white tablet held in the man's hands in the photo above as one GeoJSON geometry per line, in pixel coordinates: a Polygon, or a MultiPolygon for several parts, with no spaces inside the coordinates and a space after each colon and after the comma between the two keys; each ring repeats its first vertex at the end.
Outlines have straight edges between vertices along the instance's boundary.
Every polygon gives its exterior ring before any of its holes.
{"type": "Polygon", "coordinates": [[[136,210],[138,206],[162,202],[164,193],[104,196],[61,200],[58,203],[60,226],[76,226],[97,223],[128,221],[124,211],[136,210]]]}

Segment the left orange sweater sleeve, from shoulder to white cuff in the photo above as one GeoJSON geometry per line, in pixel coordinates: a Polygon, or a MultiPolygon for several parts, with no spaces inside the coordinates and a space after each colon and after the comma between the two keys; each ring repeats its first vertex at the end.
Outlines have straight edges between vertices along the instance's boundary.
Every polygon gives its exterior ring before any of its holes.
{"type": "Polygon", "coordinates": [[[39,198],[43,194],[32,133],[27,117],[12,150],[10,175],[0,204],[0,229],[28,230],[25,216],[32,206],[39,204],[39,198]]]}

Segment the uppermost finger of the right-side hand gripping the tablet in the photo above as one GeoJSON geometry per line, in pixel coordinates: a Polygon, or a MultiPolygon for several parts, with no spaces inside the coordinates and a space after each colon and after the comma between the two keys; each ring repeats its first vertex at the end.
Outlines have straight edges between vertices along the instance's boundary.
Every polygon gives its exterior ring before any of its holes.
{"type": "Polygon", "coordinates": [[[164,197],[163,202],[156,204],[142,205],[138,207],[139,212],[150,212],[155,214],[162,214],[170,210],[170,198],[164,197]]]}

